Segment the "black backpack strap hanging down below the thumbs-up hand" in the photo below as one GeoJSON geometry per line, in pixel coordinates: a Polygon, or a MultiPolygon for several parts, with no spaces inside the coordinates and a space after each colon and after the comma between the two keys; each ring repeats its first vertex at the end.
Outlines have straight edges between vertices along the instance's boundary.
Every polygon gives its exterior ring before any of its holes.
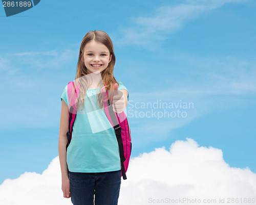
{"type": "Polygon", "coordinates": [[[122,172],[122,176],[123,176],[123,180],[126,180],[126,174],[125,174],[125,169],[124,169],[124,151],[123,151],[123,141],[122,141],[122,136],[121,136],[121,127],[117,121],[116,115],[113,111],[113,106],[112,104],[110,104],[110,100],[108,100],[108,109],[109,109],[109,113],[110,113],[110,117],[112,119],[112,122],[114,124],[114,129],[115,129],[115,133],[116,133],[116,139],[118,142],[118,147],[119,147],[119,155],[120,155],[120,160],[121,160],[121,172],[122,172]]]}

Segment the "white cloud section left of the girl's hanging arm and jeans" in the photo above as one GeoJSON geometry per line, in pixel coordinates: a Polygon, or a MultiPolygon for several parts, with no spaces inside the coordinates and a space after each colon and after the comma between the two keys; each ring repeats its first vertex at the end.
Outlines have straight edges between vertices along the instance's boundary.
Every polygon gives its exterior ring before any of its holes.
{"type": "Polygon", "coordinates": [[[58,157],[38,174],[25,172],[15,180],[7,179],[0,186],[0,204],[5,205],[65,205],[72,204],[63,198],[58,157]]]}

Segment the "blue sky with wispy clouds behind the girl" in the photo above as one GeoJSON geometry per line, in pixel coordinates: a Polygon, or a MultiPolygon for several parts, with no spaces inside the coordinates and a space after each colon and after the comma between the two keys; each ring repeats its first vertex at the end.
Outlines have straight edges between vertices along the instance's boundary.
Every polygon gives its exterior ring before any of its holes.
{"type": "Polygon", "coordinates": [[[94,30],[112,38],[114,75],[129,90],[132,157],[189,137],[221,149],[231,167],[256,172],[255,6],[252,0],[41,1],[10,17],[2,7],[0,183],[41,173],[58,155],[60,96],[75,78],[81,39],[94,30]],[[143,116],[164,112],[142,107],[159,101],[194,107],[180,110],[184,118],[143,116]]]}

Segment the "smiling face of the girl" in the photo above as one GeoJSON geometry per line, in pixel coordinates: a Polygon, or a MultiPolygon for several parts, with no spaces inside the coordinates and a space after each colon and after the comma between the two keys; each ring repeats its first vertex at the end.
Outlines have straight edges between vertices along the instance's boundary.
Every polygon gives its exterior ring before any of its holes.
{"type": "Polygon", "coordinates": [[[106,69],[111,58],[109,49],[102,43],[89,41],[83,48],[84,65],[89,73],[101,72],[106,69]]]}

